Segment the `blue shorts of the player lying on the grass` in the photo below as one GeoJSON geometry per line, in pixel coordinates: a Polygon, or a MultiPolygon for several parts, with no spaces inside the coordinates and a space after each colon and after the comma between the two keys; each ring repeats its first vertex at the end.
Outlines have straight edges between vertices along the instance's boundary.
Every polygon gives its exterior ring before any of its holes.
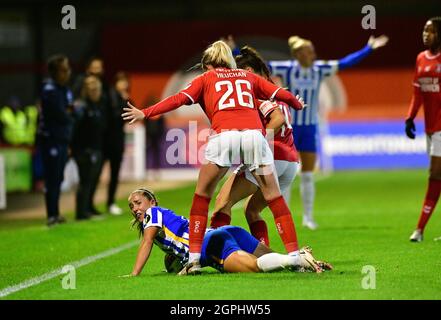
{"type": "Polygon", "coordinates": [[[201,266],[224,271],[224,261],[233,252],[243,250],[253,253],[259,241],[248,231],[236,226],[223,226],[208,231],[201,251],[201,266]]]}

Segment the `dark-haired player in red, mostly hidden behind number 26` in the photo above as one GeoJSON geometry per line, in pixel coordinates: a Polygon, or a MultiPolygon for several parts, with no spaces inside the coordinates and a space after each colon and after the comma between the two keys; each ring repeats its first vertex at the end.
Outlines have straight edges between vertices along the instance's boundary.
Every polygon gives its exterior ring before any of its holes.
{"type": "MultiPolygon", "coordinates": [[[[237,66],[250,72],[254,72],[265,79],[271,78],[268,67],[259,53],[252,47],[245,46],[240,49],[240,54],[236,56],[237,66]]],[[[291,184],[300,166],[299,156],[294,145],[294,138],[291,128],[290,107],[283,102],[269,102],[264,104],[275,105],[282,114],[283,122],[274,128],[274,140],[270,141],[274,150],[274,167],[279,181],[280,191],[289,205],[291,184]]],[[[269,114],[270,119],[275,113],[269,114]]],[[[263,123],[268,129],[268,118],[264,117],[263,123]]],[[[216,206],[211,217],[211,227],[217,228],[228,225],[231,222],[231,209],[241,199],[250,196],[245,204],[245,216],[251,234],[260,242],[269,246],[268,228],[261,212],[267,207],[267,203],[260,192],[259,185],[249,172],[242,170],[243,166],[236,169],[222,186],[216,197],[216,206]]]]}

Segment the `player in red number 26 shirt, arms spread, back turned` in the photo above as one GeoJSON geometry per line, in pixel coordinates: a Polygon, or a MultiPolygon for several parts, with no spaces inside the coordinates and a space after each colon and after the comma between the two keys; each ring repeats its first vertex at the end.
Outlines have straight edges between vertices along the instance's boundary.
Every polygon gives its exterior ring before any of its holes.
{"type": "Polygon", "coordinates": [[[124,120],[133,123],[144,117],[162,114],[182,105],[199,103],[211,123],[214,133],[209,137],[190,210],[189,264],[182,274],[199,273],[200,252],[207,228],[208,206],[220,179],[233,164],[233,154],[240,154],[248,165],[274,214],[279,234],[289,254],[298,254],[297,235],[291,212],[285,203],[271,169],[273,154],[263,135],[263,125],[255,99],[278,99],[302,109],[303,103],[289,91],[253,73],[236,69],[230,47],[217,41],[205,50],[202,68],[187,88],[156,105],[138,110],[129,104],[124,120]],[[262,168],[263,174],[256,170],[262,168]],[[265,170],[266,169],[266,170],[265,170]],[[265,172],[266,171],[266,172],[265,172]]]}

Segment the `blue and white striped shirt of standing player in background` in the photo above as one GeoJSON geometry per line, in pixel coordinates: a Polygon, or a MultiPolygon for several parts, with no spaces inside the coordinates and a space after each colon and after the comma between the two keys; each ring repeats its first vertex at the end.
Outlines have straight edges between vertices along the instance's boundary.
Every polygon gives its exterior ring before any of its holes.
{"type": "Polygon", "coordinates": [[[316,60],[309,68],[303,68],[297,60],[269,61],[274,76],[279,76],[294,95],[300,95],[308,107],[292,110],[293,126],[316,125],[318,123],[319,89],[325,77],[338,71],[338,60],[316,60]]]}

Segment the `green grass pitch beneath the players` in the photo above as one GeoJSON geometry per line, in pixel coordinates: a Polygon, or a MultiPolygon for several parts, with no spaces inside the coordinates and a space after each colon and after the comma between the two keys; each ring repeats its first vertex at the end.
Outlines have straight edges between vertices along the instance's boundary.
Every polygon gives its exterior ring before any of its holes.
{"type": "MultiPolygon", "coordinates": [[[[76,289],[64,290],[63,276],[13,293],[4,299],[440,299],[441,235],[439,208],[422,243],[410,243],[425,194],[427,173],[415,171],[339,172],[318,177],[317,231],[301,227],[298,181],[291,208],[300,245],[333,263],[324,274],[279,272],[202,276],[166,274],[163,253],[154,248],[141,276],[131,272],[137,247],[76,270],[76,289]],[[376,289],[362,288],[365,265],[376,269],[376,289]]],[[[158,192],[160,205],[188,216],[194,186],[158,192]]],[[[123,199],[119,202],[127,208],[123,199]]],[[[128,211],[128,209],[126,209],[128,211]]],[[[273,249],[284,252],[269,210],[264,217],[273,249]]],[[[49,229],[43,220],[0,225],[0,290],[136,239],[128,212],[101,221],[71,222],[49,229]]],[[[232,224],[246,227],[241,206],[232,224]]]]}

